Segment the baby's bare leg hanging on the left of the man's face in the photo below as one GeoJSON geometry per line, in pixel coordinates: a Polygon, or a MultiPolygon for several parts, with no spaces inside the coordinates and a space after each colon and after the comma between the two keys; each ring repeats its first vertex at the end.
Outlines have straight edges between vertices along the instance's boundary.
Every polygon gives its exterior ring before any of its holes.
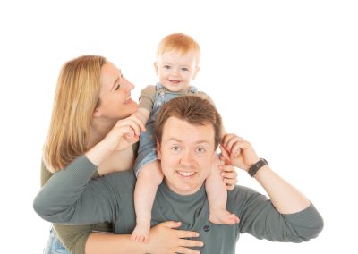
{"type": "Polygon", "coordinates": [[[158,185],[163,181],[163,173],[158,160],[143,165],[138,174],[134,190],[134,207],[137,217],[131,239],[149,242],[151,208],[156,197],[158,185]]]}

